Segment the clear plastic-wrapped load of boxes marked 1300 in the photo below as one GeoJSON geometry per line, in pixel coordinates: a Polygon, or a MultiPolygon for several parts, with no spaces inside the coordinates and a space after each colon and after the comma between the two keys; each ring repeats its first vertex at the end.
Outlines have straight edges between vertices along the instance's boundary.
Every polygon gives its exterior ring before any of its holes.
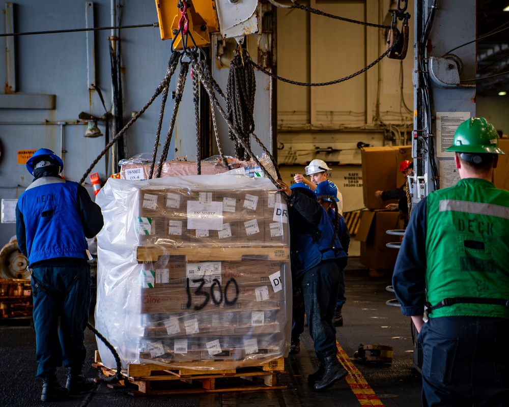
{"type": "MultiPolygon", "coordinates": [[[[288,354],[288,212],[268,179],[109,179],[96,202],[96,328],[123,368],[221,370],[288,354]]],[[[116,368],[100,340],[98,349],[116,368]]]]}

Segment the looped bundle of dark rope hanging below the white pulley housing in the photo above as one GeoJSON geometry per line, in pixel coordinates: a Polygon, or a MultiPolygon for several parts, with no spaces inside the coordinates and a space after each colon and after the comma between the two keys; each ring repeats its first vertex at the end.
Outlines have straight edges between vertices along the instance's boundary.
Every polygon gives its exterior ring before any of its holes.
{"type": "MultiPolygon", "coordinates": [[[[256,92],[254,69],[248,63],[250,60],[247,50],[239,44],[230,64],[227,85],[228,118],[247,146],[250,146],[250,134],[254,131],[254,94],[256,92]]],[[[232,128],[229,129],[228,134],[231,140],[235,140],[232,128]]],[[[246,160],[248,156],[239,141],[235,142],[235,155],[241,160],[246,160]]]]}

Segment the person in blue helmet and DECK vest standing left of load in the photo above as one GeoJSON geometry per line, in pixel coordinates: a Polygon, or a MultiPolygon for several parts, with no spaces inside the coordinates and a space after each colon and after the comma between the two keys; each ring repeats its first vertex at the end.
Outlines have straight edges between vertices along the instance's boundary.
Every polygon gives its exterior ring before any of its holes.
{"type": "Polygon", "coordinates": [[[34,180],[18,199],[16,237],[32,272],[41,400],[55,401],[94,387],[81,373],[91,285],[86,238],[101,230],[103,218],[83,186],[60,176],[64,163],[51,150],[37,150],[26,168],[34,180]],[[66,387],[55,374],[62,365],[66,387]]]}

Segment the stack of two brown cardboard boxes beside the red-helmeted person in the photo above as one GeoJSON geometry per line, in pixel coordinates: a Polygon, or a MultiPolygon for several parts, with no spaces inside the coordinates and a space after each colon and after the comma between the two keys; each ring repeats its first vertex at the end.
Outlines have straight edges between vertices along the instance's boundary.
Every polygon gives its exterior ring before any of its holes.
{"type": "Polygon", "coordinates": [[[388,203],[375,196],[376,191],[391,191],[405,182],[399,171],[403,160],[413,161],[411,146],[365,147],[361,149],[362,187],[366,210],[361,220],[356,240],[360,241],[360,261],[372,270],[391,270],[398,250],[387,243],[397,242],[397,236],[387,235],[387,230],[402,229],[403,220],[398,211],[387,211],[388,203]]]}

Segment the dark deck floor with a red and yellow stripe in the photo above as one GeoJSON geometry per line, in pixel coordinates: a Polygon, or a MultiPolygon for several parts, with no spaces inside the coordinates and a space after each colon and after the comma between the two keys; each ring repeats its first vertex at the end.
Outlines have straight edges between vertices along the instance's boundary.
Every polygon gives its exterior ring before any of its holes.
{"type": "MultiPolygon", "coordinates": [[[[279,375],[282,390],[257,392],[208,393],[185,395],[158,395],[133,397],[126,391],[100,384],[94,392],[72,396],[59,402],[60,406],[313,406],[354,407],[358,405],[417,406],[420,405],[420,374],[413,367],[413,341],[410,318],[400,309],[387,306],[394,298],[385,287],[390,275],[370,277],[369,271],[358,259],[351,259],[346,270],[347,303],[343,307],[344,326],[337,328],[338,348],[344,351],[344,364],[351,373],[346,379],[324,392],[315,392],[307,386],[307,375],[318,367],[313,342],[307,332],[301,336],[301,352],[285,359],[288,373],[279,375]],[[381,344],[393,347],[391,364],[372,364],[354,358],[359,344],[381,344]]],[[[97,375],[92,367],[97,349],[94,335],[86,331],[88,350],[84,371],[97,375]]],[[[0,326],[0,394],[2,405],[44,405],[40,400],[42,383],[34,380],[35,332],[31,326],[0,326]]],[[[58,370],[61,381],[65,371],[58,370]]]]}

